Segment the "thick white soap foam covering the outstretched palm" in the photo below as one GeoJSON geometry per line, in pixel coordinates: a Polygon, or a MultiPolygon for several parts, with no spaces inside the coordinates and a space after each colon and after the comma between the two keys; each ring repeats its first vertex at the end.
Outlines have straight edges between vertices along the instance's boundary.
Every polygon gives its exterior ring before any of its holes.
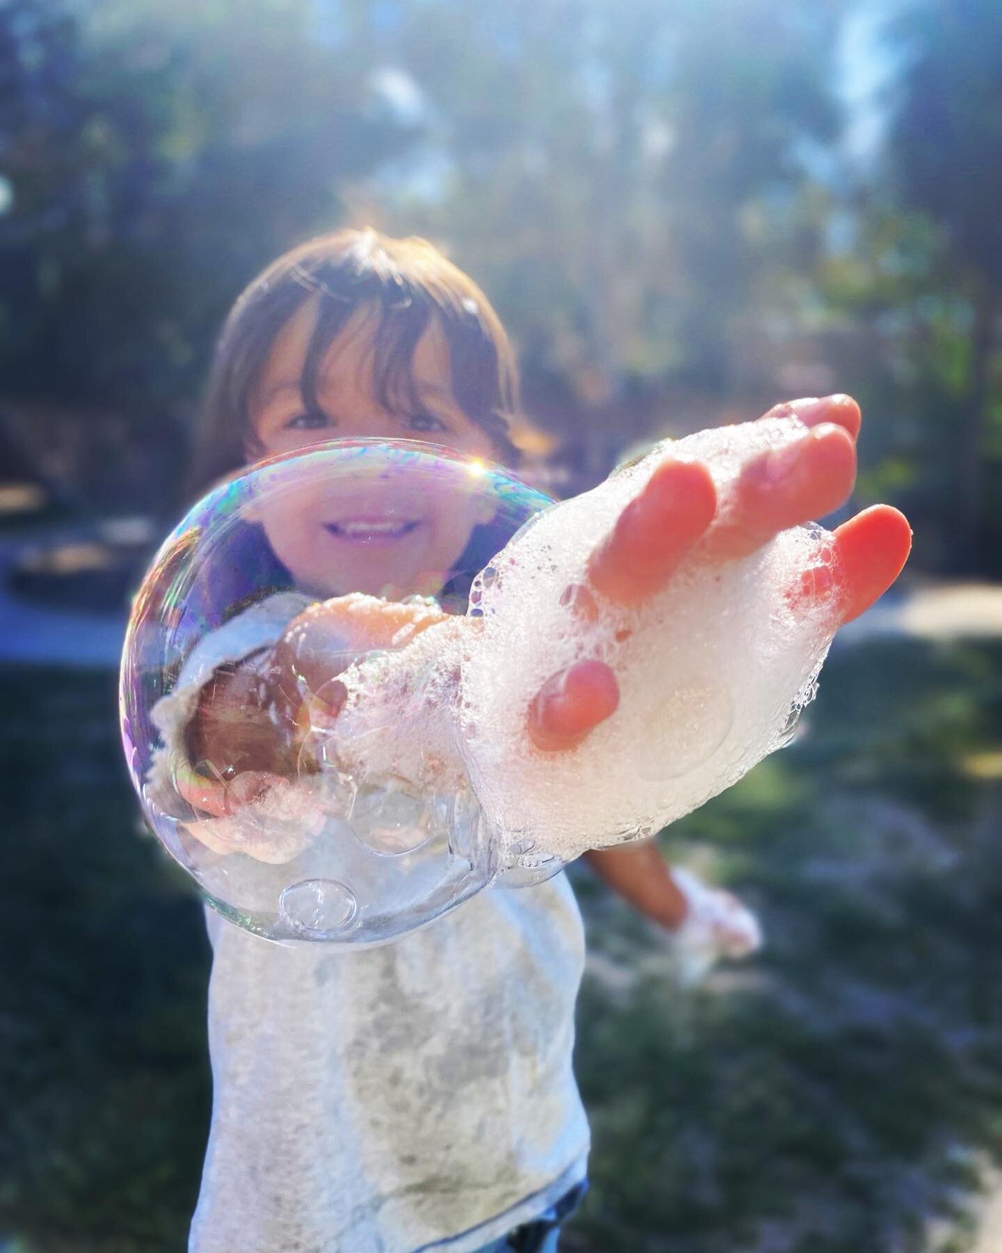
{"type": "Polygon", "coordinates": [[[660,445],[541,514],[481,574],[461,743],[506,846],[570,861],[650,836],[789,742],[837,628],[830,599],[808,608],[790,598],[805,568],[830,559],[827,531],[794,528],[726,563],[704,563],[696,548],[635,608],[594,593],[594,620],[575,613],[566,589],[586,581],[592,551],[666,455],[708,466],[726,517],[741,469],[803,435],[783,417],[660,445]],[[526,712],[551,675],[582,659],[612,668],[619,708],[576,748],[542,752],[526,736],[526,712]]]}

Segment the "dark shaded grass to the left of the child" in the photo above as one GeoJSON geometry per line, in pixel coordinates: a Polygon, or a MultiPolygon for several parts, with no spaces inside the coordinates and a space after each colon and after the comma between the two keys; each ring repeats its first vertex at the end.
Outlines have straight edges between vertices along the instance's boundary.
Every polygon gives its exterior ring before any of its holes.
{"type": "Polygon", "coordinates": [[[178,1250],[208,1125],[200,908],[138,834],[110,675],[0,674],[0,1232],[178,1250]]]}

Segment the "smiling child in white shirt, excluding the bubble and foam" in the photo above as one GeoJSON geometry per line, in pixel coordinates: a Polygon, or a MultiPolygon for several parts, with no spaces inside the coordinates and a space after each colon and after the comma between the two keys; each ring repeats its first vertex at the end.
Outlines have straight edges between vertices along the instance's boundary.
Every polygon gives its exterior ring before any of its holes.
{"type": "MultiPolygon", "coordinates": [[[[207,485],[261,457],[347,436],[427,440],[511,462],[506,416],[515,407],[511,352],[475,284],[422,241],[341,232],[277,261],[237,302],[217,352],[198,467],[207,485]]],[[[596,551],[596,586],[624,601],[644,596],[669,576],[680,536],[691,543],[710,526],[710,553],[752,551],[839,504],[852,485],[858,408],[829,397],[803,402],[798,416],[810,427],[803,447],[743,475],[719,525],[713,510],[694,521],[699,467],[658,476],[596,551]]],[[[835,533],[845,619],[903,563],[907,524],[898,519],[869,511],[835,533]]],[[[381,590],[364,585],[380,575],[351,569],[348,523],[336,530],[352,586],[294,569],[306,549],[294,541],[296,520],[284,525],[272,517],[264,528],[276,595],[291,594],[281,590],[282,571],[313,599],[381,590]]],[[[440,539],[445,580],[463,538],[440,539]]],[[[222,628],[220,668],[180,728],[189,759],[230,764],[228,710],[235,704],[244,717],[262,664],[272,692],[264,704],[294,687],[282,672],[283,640],[309,599],[256,628],[252,644],[239,639],[247,621],[222,628]]],[[[304,630],[309,658],[316,639],[304,630]]],[[[328,630],[321,615],[322,640],[328,630]]],[[[572,747],[611,712],[607,692],[595,667],[555,675],[527,710],[526,734],[546,752],[572,747]]],[[[283,747],[269,738],[268,709],[261,713],[250,736],[256,727],[263,738],[242,763],[252,786],[256,774],[274,777],[283,747]]],[[[207,826],[225,822],[225,788],[193,787],[207,826]]],[[[691,880],[680,886],[653,845],[589,856],[641,912],[695,932],[696,946],[740,952],[757,941],[733,898],[691,880]]],[[[214,1103],[195,1253],[554,1247],[584,1189],[589,1148],[571,1069],[584,941],[565,876],[481,892],[422,931],[347,955],[268,945],[214,913],[208,925],[214,1103]]]]}

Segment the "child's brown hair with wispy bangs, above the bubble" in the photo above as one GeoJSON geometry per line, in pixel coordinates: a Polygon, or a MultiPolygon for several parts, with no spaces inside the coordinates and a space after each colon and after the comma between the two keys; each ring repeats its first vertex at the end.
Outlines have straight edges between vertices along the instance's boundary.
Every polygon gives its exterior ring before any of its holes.
{"type": "Polygon", "coordinates": [[[195,491],[245,462],[249,397],[279,332],[313,296],[319,296],[319,312],[301,380],[307,405],[316,405],[317,371],[327,348],[357,308],[373,304],[380,403],[391,412],[402,405],[420,408],[413,352],[436,317],[448,342],[456,402],[487,432],[498,459],[517,465],[509,420],[519,407],[519,376],[486,296],[426,239],[391,239],[367,228],[337,231],[287,252],[237,299],[209,376],[195,440],[195,491]]]}

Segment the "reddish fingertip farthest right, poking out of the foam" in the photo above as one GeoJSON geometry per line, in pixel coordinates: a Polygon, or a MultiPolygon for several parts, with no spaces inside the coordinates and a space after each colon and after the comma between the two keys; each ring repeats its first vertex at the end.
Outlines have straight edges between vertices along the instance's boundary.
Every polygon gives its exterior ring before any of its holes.
{"type": "Polygon", "coordinates": [[[798,603],[839,595],[839,624],[850,623],[879,600],[904,569],[912,550],[912,528],[891,505],[874,505],[834,531],[830,560],[800,576],[798,603]]]}

